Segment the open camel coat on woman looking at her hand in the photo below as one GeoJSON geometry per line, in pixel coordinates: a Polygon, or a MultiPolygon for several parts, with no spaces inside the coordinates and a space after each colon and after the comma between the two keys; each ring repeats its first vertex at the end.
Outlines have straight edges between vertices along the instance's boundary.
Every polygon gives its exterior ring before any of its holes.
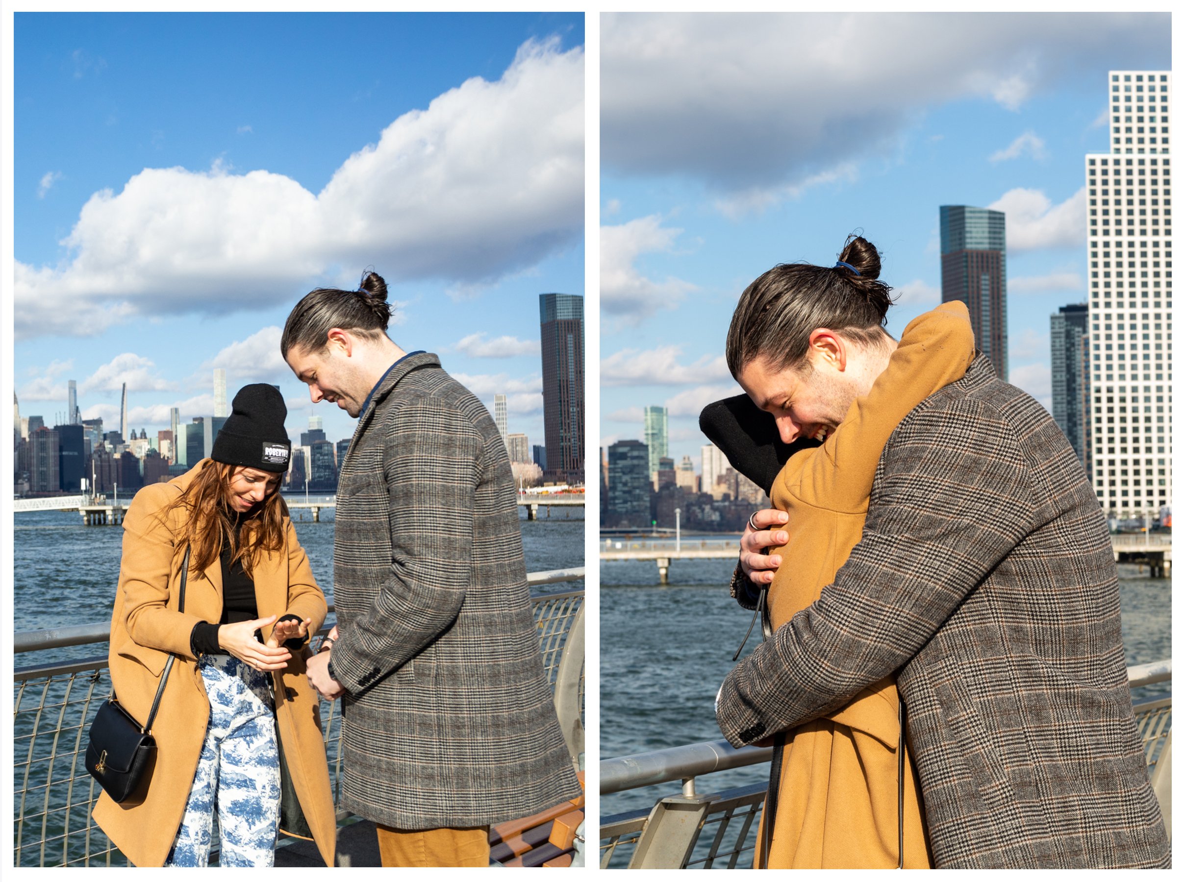
{"type": "MultiPolygon", "coordinates": [[[[94,811],[95,822],[136,867],[161,867],[168,857],[210,719],[190,635],[198,622],[216,623],[222,618],[222,562],[216,559],[200,573],[191,569],[185,612],[180,612],[186,514],[181,508],[169,510],[168,506],[212,462],[203,459],[185,475],[143,488],[123,521],[123,556],[108,658],[115,695],[133,717],[147,720],[168,654],[177,656],[152,729],[156,764],[149,771],[146,792],[122,804],[103,793],[94,811]]],[[[288,517],[284,547],[264,554],[255,564],[252,578],[260,618],[290,612],[313,619],[310,633],[320,629],[326,616],[325,595],[288,517]]],[[[264,639],[269,632],[267,629],[264,639]]],[[[299,652],[293,654],[286,670],[271,676],[276,729],[290,783],[321,857],[332,867],[337,819],[318,696],[305,677],[305,659],[299,652]]]]}

